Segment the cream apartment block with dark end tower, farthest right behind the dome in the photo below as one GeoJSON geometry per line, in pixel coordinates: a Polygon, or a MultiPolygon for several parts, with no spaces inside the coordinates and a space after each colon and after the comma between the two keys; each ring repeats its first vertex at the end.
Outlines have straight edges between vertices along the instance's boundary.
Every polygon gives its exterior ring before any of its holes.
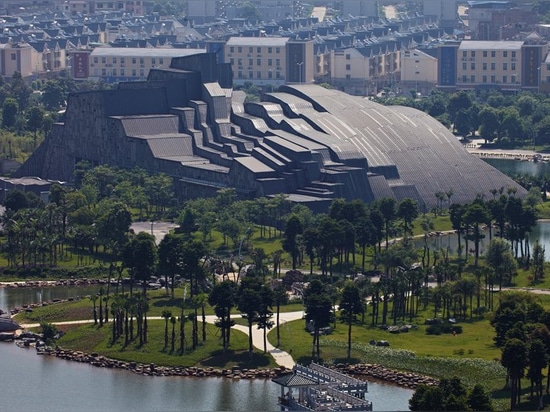
{"type": "Polygon", "coordinates": [[[462,41],[457,50],[457,88],[520,89],[522,46],[522,41],[462,41]]]}

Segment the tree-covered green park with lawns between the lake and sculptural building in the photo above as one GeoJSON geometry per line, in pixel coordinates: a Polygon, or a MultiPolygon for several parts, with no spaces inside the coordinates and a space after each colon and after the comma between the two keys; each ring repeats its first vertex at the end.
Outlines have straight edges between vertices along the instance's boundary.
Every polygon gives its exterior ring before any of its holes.
{"type": "Polygon", "coordinates": [[[83,168],[78,189],[54,187],[48,205],[10,192],[0,282],[102,280],[97,294],[15,316],[47,339],[63,331],[51,346],[159,366],[276,369],[248,336],[265,330],[300,364],[458,378],[481,384],[496,410],[550,403],[550,279],[544,249],[528,241],[548,216],[539,190],[465,205],[449,190],[423,214],[410,199],[337,200],[313,214],[284,196],[243,201],[222,189],[175,213],[158,194],[158,204],[122,202],[136,174],[170,198],[162,176],[105,166],[83,168]],[[169,220],[178,228],[155,238],[169,220]],[[130,229],[135,221],[146,231],[130,229]],[[460,238],[458,254],[429,246],[443,232],[460,238]],[[294,320],[278,325],[278,314],[294,320]]]}

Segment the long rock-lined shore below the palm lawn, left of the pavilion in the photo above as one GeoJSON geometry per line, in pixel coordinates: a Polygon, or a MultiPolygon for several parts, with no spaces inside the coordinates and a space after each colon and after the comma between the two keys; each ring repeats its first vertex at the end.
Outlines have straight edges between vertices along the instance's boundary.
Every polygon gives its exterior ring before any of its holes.
{"type": "Polygon", "coordinates": [[[285,367],[273,369],[216,369],[216,368],[197,368],[197,367],[178,367],[178,366],[159,366],[152,364],[142,364],[137,362],[126,362],[115,359],[109,359],[97,353],[84,353],[80,351],[64,350],[60,348],[44,348],[39,351],[42,355],[55,356],[61,359],[88,363],[98,368],[124,369],[129,372],[138,373],[145,376],[188,376],[188,377],[218,377],[229,379],[271,379],[282,373],[289,372],[285,367]]]}

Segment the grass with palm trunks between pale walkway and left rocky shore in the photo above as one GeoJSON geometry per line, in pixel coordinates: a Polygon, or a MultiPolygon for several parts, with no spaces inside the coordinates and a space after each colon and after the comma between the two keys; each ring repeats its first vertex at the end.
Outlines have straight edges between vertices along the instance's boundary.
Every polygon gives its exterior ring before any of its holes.
{"type": "MultiPolygon", "coordinates": [[[[168,325],[168,347],[164,348],[164,320],[149,320],[148,341],[145,345],[139,346],[134,340],[126,348],[123,347],[123,337],[115,345],[110,342],[112,323],[109,322],[103,327],[93,324],[82,326],[61,326],[59,329],[65,331],[65,335],[57,341],[57,345],[64,349],[84,351],[87,353],[98,353],[111,359],[118,359],[126,362],[139,362],[162,366],[178,367],[215,367],[232,368],[241,367],[273,368],[276,364],[273,358],[261,351],[254,351],[253,357],[248,355],[248,337],[237,330],[231,331],[230,350],[222,353],[219,329],[213,325],[206,325],[207,339],[202,343],[200,339],[196,350],[191,349],[191,324],[185,325],[186,350],[183,356],[177,353],[179,348],[179,324],[176,324],[175,352],[171,352],[172,325],[168,325]]],[[[202,334],[202,323],[199,322],[199,335],[202,334]]]]}

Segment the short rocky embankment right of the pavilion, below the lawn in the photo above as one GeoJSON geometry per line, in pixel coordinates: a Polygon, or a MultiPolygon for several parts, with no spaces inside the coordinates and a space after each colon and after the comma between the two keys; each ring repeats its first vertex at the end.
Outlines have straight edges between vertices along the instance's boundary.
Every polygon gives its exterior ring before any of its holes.
{"type": "Polygon", "coordinates": [[[410,372],[399,372],[375,364],[338,364],[336,365],[336,369],[358,379],[377,379],[410,389],[416,389],[418,385],[434,386],[439,383],[439,380],[429,376],[423,376],[410,372]]]}

